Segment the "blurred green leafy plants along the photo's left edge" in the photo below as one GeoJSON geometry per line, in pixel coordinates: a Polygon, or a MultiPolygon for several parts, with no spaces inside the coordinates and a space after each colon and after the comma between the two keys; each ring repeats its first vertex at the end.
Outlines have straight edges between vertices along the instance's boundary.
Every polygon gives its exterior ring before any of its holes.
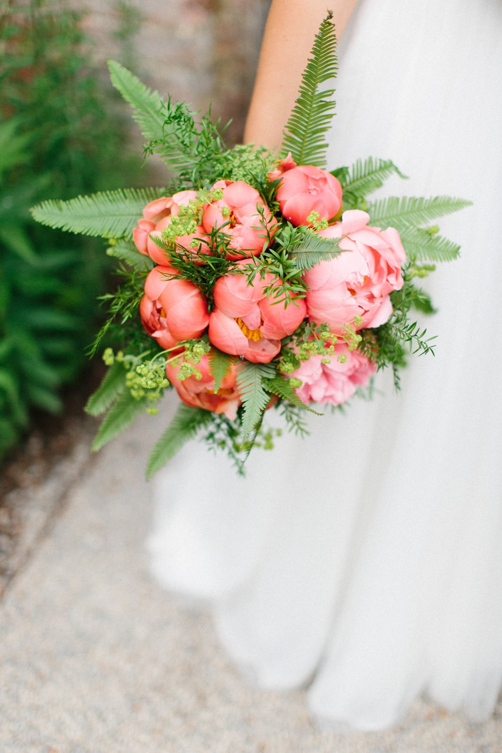
{"type": "Polygon", "coordinates": [[[126,124],[80,21],[44,0],[0,11],[0,459],[32,409],[62,410],[62,386],[86,362],[108,274],[93,239],[68,242],[35,224],[29,207],[102,181],[120,185],[139,164],[124,154],[126,124]]]}

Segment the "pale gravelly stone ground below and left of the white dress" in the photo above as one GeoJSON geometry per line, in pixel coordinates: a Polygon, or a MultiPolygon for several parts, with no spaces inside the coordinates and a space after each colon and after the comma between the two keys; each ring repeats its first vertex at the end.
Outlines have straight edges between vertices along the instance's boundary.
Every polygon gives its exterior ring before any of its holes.
{"type": "Polygon", "coordinates": [[[393,730],[339,735],[313,726],[302,691],[251,687],[208,611],[148,573],[151,426],[145,418],[91,456],[84,423],[43,483],[11,492],[23,515],[0,599],[1,751],[502,751],[502,703],[470,724],[418,700],[393,730]]]}

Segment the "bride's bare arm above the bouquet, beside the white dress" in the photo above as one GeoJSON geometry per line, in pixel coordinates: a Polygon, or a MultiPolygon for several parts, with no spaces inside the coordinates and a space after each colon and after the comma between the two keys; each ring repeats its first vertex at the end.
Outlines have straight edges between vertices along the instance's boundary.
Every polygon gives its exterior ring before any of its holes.
{"type": "Polygon", "coordinates": [[[244,141],[273,149],[298,96],[303,69],[327,10],[336,36],[345,29],[357,0],[272,0],[260,62],[246,120],[244,141]]]}

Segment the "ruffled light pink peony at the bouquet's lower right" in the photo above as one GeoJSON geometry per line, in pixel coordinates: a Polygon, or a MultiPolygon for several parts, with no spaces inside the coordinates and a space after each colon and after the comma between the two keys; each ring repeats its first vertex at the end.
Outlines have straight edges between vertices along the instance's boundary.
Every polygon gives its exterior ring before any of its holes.
{"type": "Polygon", "coordinates": [[[357,350],[349,351],[345,343],[335,343],[334,347],[329,364],[322,363],[321,355],[312,355],[291,373],[303,382],[296,392],[304,403],[341,405],[354,395],[357,386],[366,386],[376,372],[375,364],[357,350]],[[338,360],[340,355],[345,362],[338,360]]]}

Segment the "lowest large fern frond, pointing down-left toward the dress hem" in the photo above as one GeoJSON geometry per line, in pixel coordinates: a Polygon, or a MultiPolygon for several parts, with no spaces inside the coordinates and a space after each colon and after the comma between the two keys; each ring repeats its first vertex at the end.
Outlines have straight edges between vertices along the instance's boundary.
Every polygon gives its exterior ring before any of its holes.
{"type": "Polygon", "coordinates": [[[213,414],[202,408],[192,408],[181,404],[175,413],[169,427],[155,445],[148,459],[147,479],[160,470],[181,447],[195,437],[200,428],[211,423],[213,414]]]}

